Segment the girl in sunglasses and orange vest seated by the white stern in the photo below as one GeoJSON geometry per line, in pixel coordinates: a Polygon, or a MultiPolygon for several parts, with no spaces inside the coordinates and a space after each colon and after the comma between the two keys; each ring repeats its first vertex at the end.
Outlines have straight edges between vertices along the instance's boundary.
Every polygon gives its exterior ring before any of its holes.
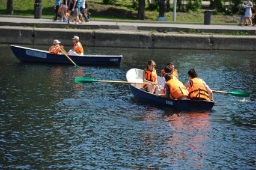
{"type": "Polygon", "coordinates": [[[159,89],[159,85],[157,85],[157,74],[156,74],[156,62],[153,60],[148,61],[147,68],[144,69],[143,72],[143,80],[144,82],[150,82],[150,85],[145,85],[145,90],[150,93],[155,93],[159,89]]]}

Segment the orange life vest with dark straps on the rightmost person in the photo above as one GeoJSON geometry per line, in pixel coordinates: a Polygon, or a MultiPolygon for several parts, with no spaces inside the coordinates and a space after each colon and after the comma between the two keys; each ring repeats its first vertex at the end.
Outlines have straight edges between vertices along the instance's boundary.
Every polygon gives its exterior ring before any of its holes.
{"type": "Polygon", "coordinates": [[[202,79],[194,78],[189,80],[190,88],[189,88],[189,98],[190,99],[203,99],[210,101],[209,94],[204,87],[204,83],[202,79]]]}

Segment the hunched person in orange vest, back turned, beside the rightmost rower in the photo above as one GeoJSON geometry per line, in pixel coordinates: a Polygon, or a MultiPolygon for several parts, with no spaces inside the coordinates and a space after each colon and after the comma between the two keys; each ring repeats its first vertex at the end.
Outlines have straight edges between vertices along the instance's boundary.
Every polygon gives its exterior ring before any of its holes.
{"type": "Polygon", "coordinates": [[[165,96],[169,99],[185,100],[189,99],[186,87],[179,80],[175,79],[171,73],[165,74],[165,96]]]}

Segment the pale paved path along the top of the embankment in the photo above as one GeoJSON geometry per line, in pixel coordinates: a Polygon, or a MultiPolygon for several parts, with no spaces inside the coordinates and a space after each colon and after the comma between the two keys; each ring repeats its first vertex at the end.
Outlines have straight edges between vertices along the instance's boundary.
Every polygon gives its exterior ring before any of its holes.
{"type": "MultiPolygon", "coordinates": [[[[115,20],[91,20],[90,22],[76,24],[67,24],[63,22],[53,22],[52,19],[34,19],[31,17],[3,17],[0,16],[0,25],[29,26],[40,25],[40,27],[50,28],[94,28],[94,29],[123,29],[129,31],[150,31],[151,29],[166,29],[167,31],[177,31],[180,29],[201,29],[201,32],[217,31],[251,31],[256,34],[256,26],[238,26],[231,24],[211,24],[203,25],[199,23],[174,23],[174,22],[144,22],[144,21],[115,21],[115,20]],[[175,28],[175,30],[174,30],[175,28]]],[[[214,33],[214,32],[213,32],[214,33]]]]}

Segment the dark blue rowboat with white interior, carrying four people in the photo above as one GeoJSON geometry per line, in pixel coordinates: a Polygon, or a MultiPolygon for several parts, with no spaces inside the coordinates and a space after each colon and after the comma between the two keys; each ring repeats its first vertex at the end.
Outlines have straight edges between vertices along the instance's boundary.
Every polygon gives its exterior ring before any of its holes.
{"type": "MultiPolygon", "coordinates": [[[[126,79],[129,82],[143,82],[143,70],[132,68],[126,73],[126,79]]],[[[160,83],[160,77],[157,76],[160,83]]],[[[165,108],[174,108],[181,111],[207,111],[211,110],[215,102],[199,101],[199,100],[172,100],[160,97],[156,94],[148,93],[141,90],[142,84],[129,84],[129,88],[133,95],[142,102],[151,103],[153,105],[163,106],[165,108]]]]}

